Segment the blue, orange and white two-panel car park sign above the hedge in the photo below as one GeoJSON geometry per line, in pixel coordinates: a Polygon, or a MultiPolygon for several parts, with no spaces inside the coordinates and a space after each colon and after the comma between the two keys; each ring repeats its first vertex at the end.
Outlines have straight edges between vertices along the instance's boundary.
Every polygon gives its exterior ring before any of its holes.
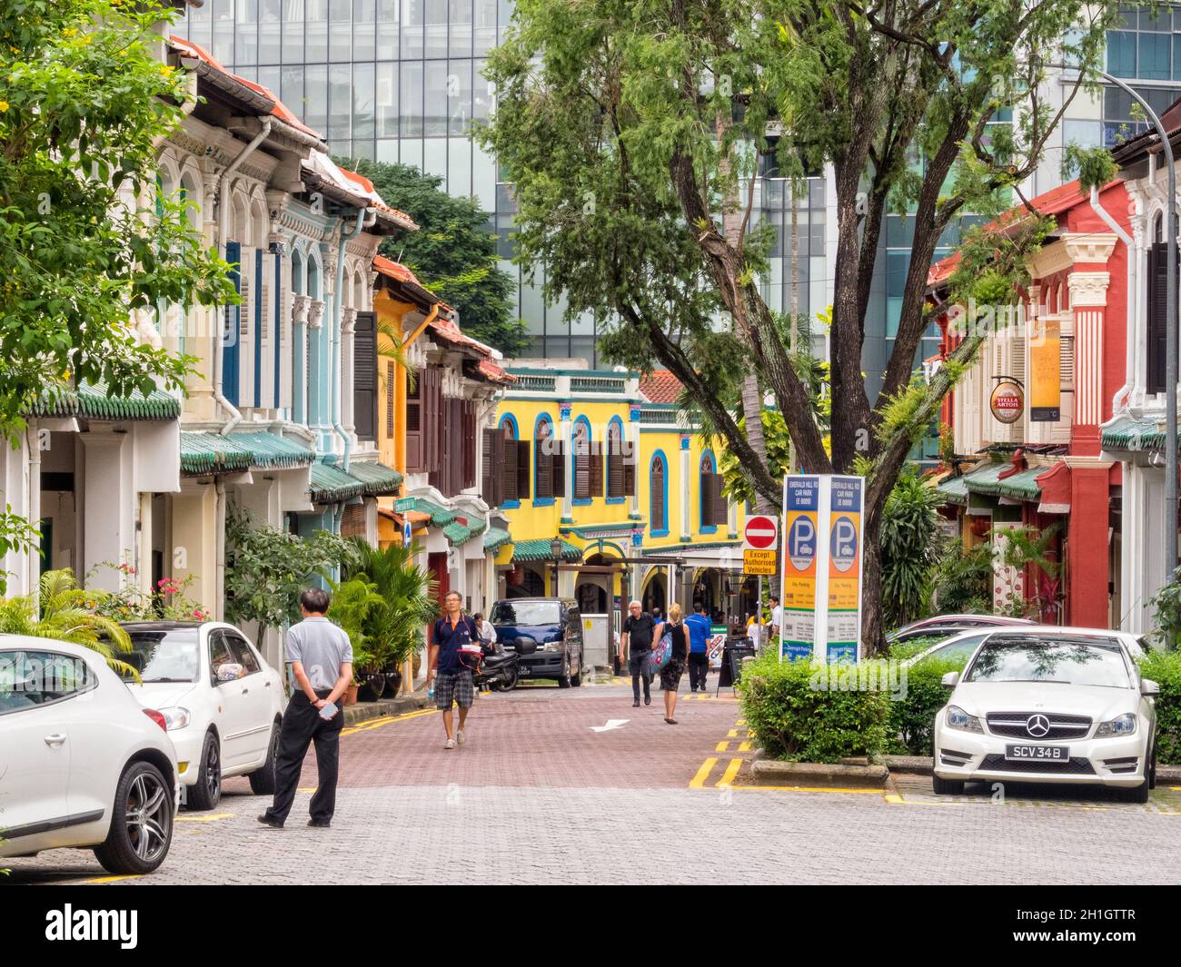
{"type": "Polygon", "coordinates": [[[781,660],[859,659],[863,502],[861,477],[784,478],[781,660]]]}

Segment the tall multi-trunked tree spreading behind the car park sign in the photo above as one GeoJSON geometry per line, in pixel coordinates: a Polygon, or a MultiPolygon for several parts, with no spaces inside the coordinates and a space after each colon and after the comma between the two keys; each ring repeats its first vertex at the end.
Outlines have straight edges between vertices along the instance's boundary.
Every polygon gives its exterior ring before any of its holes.
{"type": "MultiPolygon", "coordinates": [[[[607,320],[608,357],[670,368],[766,501],[778,502],[781,483],[725,401],[750,372],[775,397],[804,470],[848,472],[855,457],[869,459],[862,638],[872,649],[883,643],[882,510],[985,338],[971,329],[929,385],[912,380],[938,312],[926,300],[938,241],[965,213],[999,216],[1012,204],[1094,79],[1116,12],[1082,0],[518,0],[489,57],[497,110],[476,137],[510,172],[518,260],[546,267],[547,294],[565,294],[570,318],[607,320]],[[1050,105],[1042,91],[1058,60],[1083,73],[1050,105]],[[759,289],[771,240],[753,210],[759,155],[775,155],[788,177],[827,165],[834,181],[831,453],[759,289]],[[872,401],[861,359],[890,209],[912,213],[914,241],[872,401]]],[[[965,261],[987,264],[1009,303],[1044,231],[1040,218],[1003,220],[971,235],[965,261]]],[[[954,296],[979,281],[958,273],[954,296]]]]}

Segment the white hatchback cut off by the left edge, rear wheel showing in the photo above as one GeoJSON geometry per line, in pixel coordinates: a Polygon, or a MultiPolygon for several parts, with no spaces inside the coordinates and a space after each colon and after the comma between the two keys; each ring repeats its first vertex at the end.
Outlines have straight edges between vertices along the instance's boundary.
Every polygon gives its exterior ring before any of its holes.
{"type": "Polygon", "coordinates": [[[116,874],[168,856],[176,752],[103,656],[0,635],[0,856],[93,848],[116,874]]]}

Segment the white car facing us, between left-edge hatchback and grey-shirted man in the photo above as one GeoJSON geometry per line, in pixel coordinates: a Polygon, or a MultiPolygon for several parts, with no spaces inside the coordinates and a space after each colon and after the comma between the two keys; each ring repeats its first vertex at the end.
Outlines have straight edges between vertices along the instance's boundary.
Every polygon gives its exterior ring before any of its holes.
{"type": "Polygon", "coordinates": [[[190,809],[213,809],[222,779],[247,776],[259,796],[275,791],[282,677],[233,625],[135,621],[123,629],[139,672],[128,682],[139,704],[157,708],[176,746],[181,793],[190,809]]]}

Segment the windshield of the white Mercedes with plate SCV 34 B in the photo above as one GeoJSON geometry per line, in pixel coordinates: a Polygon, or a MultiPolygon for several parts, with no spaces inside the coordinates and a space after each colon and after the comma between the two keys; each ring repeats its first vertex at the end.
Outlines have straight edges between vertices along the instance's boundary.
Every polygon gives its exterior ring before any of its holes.
{"type": "Polygon", "coordinates": [[[1102,638],[993,638],[980,648],[964,680],[1131,686],[1118,642],[1102,638]]]}

